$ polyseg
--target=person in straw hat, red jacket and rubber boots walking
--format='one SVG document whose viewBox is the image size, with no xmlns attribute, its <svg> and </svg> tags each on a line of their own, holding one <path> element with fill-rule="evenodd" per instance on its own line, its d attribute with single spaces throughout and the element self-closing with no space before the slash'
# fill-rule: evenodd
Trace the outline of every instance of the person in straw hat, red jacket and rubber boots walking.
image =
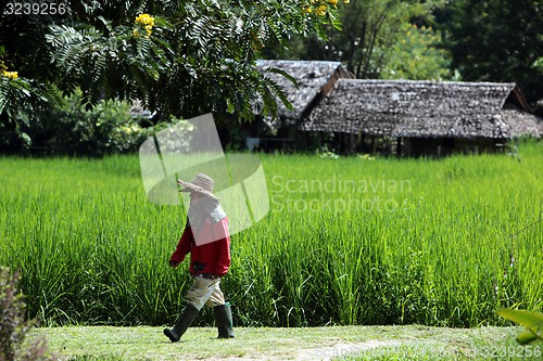
<svg viewBox="0 0 543 361">
<path fill-rule="evenodd" d="M 176 343 L 185 334 L 200 309 L 213 307 L 218 338 L 233 338 L 230 305 L 225 302 L 220 291 L 220 278 L 230 267 L 230 234 L 228 218 L 218 198 L 213 194 L 214 181 L 204 173 L 197 175 L 189 183 L 177 181 L 181 192 L 190 192 L 187 224 L 169 259 L 171 267 L 177 267 L 190 253 L 192 286 L 187 293 L 187 306 L 173 328 L 164 334 Z"/>
</svg>

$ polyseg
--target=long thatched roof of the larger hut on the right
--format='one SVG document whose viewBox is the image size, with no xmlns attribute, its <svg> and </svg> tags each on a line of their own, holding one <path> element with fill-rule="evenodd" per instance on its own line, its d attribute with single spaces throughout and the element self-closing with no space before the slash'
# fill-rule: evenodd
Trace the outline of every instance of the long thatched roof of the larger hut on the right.
<svg viewBox="0 0 543 361">
<path fill-rule="evenodd" d="M 504 109 L 515 83 L 339 79 L 302 130 L 407 138 L 512 138 L 541 119 Z M 515 93 L 519 96 L 519 92 Z"/>
</svg>

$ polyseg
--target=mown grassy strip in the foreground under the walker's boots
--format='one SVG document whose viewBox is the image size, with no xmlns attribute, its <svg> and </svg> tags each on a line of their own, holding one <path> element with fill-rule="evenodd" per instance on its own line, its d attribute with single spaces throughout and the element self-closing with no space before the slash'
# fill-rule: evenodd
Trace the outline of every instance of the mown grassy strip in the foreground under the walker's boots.
<svg viewBox="0 0 543 361">
<path fill-rule="evenodd" d="M 191 327 L 180 343 L 172 344 L 162 327 L 70 326 L 37 328 L 29 338 L 47 337 L 49 349 L 70 360 L 541 359 L 542 346 L 516 344 L 519 331 L 419 325 L 238 327 L 235 339 L 215 339 L 215 328 Z"/>
</svg>

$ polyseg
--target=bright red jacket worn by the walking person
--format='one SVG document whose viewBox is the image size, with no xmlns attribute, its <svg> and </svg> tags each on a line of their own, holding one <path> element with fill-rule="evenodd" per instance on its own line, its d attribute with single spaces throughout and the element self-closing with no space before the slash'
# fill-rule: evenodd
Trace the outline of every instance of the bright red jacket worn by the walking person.
<svg viewBox="0 0 543 361">
<path fill-rule="evenodd" d="M 228 233 L 228 218 L 225 217 L 216 223 L 205 222 L 200 232 L 213 234 L 213 240 L 198 246 L 190 227 L 186 227 L 177 249 L 169 261 L 182 262 L 190 253 L 190 274 L 213 273 L 223 276 L 230 267 L 230 234 Z"/>
</svg>

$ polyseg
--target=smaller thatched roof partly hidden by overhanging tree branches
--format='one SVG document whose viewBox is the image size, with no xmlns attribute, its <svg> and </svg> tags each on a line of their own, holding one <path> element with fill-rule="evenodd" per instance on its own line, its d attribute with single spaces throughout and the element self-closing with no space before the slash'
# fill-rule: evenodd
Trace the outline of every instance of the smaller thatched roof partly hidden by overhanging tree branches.
<svg viewBox="0 0 543 361">
<path fill-rule="evenodd" d="M 289 111 L 279 100 L 278 115 L 283 119 L 290 119 L 290 123 L 296 123 L 303 117 L 312 102 L 319 95 L 321 88 L 332 78 L 336 80 L 339 76 L 346 76 L 340 62 L 262 60 L 256 62 L 256 66 L 261 73 L 276 81 L 285 90 L 294 111 Z M 298 89 L 292 81 L 282 75 L 266 73 L 269 68 L 278 68 L 288 73 L 296 80 Z"/>
</svg>

